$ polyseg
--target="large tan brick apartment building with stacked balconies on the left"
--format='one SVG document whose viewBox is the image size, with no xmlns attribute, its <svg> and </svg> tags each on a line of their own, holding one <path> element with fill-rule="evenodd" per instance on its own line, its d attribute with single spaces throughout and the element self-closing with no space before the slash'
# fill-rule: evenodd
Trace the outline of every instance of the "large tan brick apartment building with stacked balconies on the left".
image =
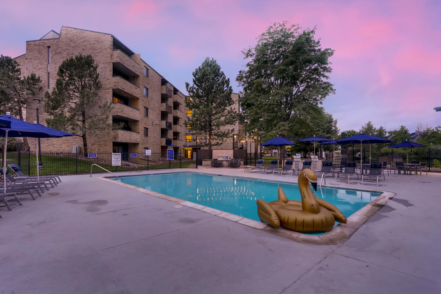
<svg viewBox="0 0 441 294">
<path fill-rule="evenodd" d="M 112 101 L 109 123 L 123 123 L 121 130 L 89 136 L 89 151 L 142 153 L 165 152 L 169 148 L 182 152 L 185 145 L 185 95 L 155 71 L 137 54 L 109 33 L 99 33 L 63 26 L 60 33 L 50 31 L 44 37 L 26 41 L 26 53 L 15 58 L 23 74 L 41 77 L 44 91 L 55 86 L 61 62 L 77 54 L 93 56 L 98 64 L 102 88 L 98 99 Z M 40 123 L 47 114 L 40 104 Z M 26 104 L 26 121 L 34 122 L 36 102 Z M 173 145 L 173 147 L 170 147 Z M 42 139 L 41 149 L 72 152 L 82 138 Z M 31 147 L 32 148 L 32 147 Z M 124 159 L 124 158 L 123 158 Z"/>
</svg>

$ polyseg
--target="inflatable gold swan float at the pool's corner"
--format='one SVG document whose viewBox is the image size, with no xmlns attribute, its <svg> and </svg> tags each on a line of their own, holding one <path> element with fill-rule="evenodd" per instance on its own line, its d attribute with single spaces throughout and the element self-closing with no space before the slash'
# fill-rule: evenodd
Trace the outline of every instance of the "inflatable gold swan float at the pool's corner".
<svg viewBox="0 0 441 294">
<path fill-rule="evenodd" d="M 302 201 L 288 200 L 282 188 L 279 187 L 279 200 L 265 202 L 257 200 L 259 219 L 272 227 L 302 233 L 320 233 L 330 231 L 335 221 L 347 223 L 346 216 L 340 209 L 328 201 L 316 198 L 309 187 L 311 182 L 317 191 L 317 175 L 309 168 L 299 174 L 299 190 Z"/>
</svg>

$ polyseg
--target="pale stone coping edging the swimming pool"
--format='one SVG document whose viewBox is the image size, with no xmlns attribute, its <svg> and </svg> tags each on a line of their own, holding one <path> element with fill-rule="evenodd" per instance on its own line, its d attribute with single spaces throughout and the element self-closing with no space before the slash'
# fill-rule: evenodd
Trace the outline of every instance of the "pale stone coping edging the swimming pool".
<svg viewBox="0 0 441 294">
<path fill-rule="evenodd" d="M 192 172 L 192 173 L 198 173 L 203 175 L 219 175 L 219 174 L 211 174 L 211 173 L 204 173 L 204 172 L 195 172 L 195 171 L 173 171 L 173 172 L 164 172 L 164 173 L 148 173 L 148 174 L 141 174 L 141 175 L 158 175 L 158 174 L 170 174 L 170 173 L 177 173 L 177 172 Z M 128 176 L 140 176 L 140 175 L 128 175 Z M 234 176 L 234 175 L 220 175 L 220 176 L 228 176 L 228 177 L 236 177 L 236 178 L 243 178 L 243 179 L 254 179 L 254 178 L 247 178 L 247 177 L 240 177 L 240 176 Z M 243 216 L 238 216 L 229 212 L 224 212 L 215 208 L 211 208 L 208 206 L 200 205 L 198 203 L 194 203 L 191 201 L 183 200 L 180 198 L 176 198 L 173 196 L 161 194 L 152 190 L 147 190 L 144 188 L 140 188 L 137 186 L 133 186 L 130 184 L 126 184 L 123 182 L 118 182 L 115 180 L 112 180 L 110 178 L 114 177 L 97 177 L 96 179 L 100 179 L 106 182 L 112 182 L 116 185 L 120 185 L 132 190 L 136 190 L 139 192 L 142 192 L 144 194 L 149 194 L 154 197 L 158 197 L 161 199 L 165 199 L 168 201 L 175 202 L 180 205 L 185 205 L 190 208 L 198 209 L 202 212 L 206 212 L 209 214 L 212 214 L 214 216 L 219 216 L 221 218 L 224 218 L 226 220 L 231 220 L 236 223 L 241 223 L 243 225 L 246 225 L 248 227 L 252 227 L 254 229 L 262 230 L 269 232 L 271 234 L 276 234 L 278 236 L 288 238 L 291 240 L 294 240 L 296 242 L 302 242 L 302 243 L 308 243 L 308 244 L 315 244 L 315 245 L 334 245 L 341 242 L 346 241 L 352 234 L 355 233 L 364 223 L 366 223 L 367 220 L 370 219 L 371 216 L 373 216 L 380 208 L 382 208 L 384 205 L 386 205 L 386 202 L 389 199 L 392 199 L 396 193 L 389 192 L 389 191 L 382 191 L 382 190 L 370 190 L 370 189 L 360 189 L 360 188 L 346 188 L 346 187 L 340 187 L 340 186 L 329 186 L 329 185 L 322 185 L 325 187 L 330 188 L 337 188 L 337 189 L 348 189 L 348 190 L 359 190 L 359 191 L 367 191 L 367 192 L 377 192 L 381 193 L 380 196 L 376 197 L 373 201 L 369 202 L 363 208 L 360 208 L 356 212 L 354 212 L 351 216 L 348 217 L 348 223 L 339 223 L 331 231 L 326 232 L 325 234 L 321 235 L 311 235 L 311 234 L 302 234 L 295 231 L 290 231 L 287 229 L 284 229 L 282 227 L 274 228 L 266 223 L 259 222 L 257 220 L 251 220 Z M 283 182 L 288 184 L 298 184 L 295 182 L 286 182 L 286 181 L 280 181 L 280 180 L 273 180 L 273 179 L 255 179 L 255 180 L 263 180 L 263 181 L 271 181 L 271 182 Z"/>
</svg>

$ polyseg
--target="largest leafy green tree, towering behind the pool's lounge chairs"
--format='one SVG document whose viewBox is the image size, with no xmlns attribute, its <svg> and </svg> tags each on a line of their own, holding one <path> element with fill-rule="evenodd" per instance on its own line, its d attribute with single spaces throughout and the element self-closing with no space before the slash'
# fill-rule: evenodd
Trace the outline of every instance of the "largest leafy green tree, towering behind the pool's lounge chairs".
<svg viewBox="0 0 441 294">
<path fill-rule="evenodd" d="M 258 37 L 257 45 L 243 51 L 249 60 L 236 81 L 243 87 L 239 99 L 247 123 L 245 130 L 265 134 L 296 135 L 307 129 L 307 109 L 331 93 L 326 82 L 330 48 L 314 39 L 315 28 L 303 30 L 288 22 L 274 23 Z"/>
</svg>

